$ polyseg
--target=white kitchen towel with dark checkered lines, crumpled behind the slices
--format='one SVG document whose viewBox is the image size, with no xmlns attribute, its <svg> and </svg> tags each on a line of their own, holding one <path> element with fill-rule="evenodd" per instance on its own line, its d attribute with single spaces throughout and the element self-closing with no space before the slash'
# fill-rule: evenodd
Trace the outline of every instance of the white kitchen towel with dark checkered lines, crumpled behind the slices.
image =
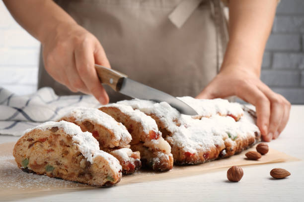
<svg viewBox="0 0 304 202">
<path fill-rule="evenodd" d="M 0 87 L 0 134 L 21 136 L 40 123 L 56 120 L 76 106 L 100 106 L 93 96 L 57 96 L 52 88 L 42 88 L 28 96 L 17 96 Z"/>
</svg>

